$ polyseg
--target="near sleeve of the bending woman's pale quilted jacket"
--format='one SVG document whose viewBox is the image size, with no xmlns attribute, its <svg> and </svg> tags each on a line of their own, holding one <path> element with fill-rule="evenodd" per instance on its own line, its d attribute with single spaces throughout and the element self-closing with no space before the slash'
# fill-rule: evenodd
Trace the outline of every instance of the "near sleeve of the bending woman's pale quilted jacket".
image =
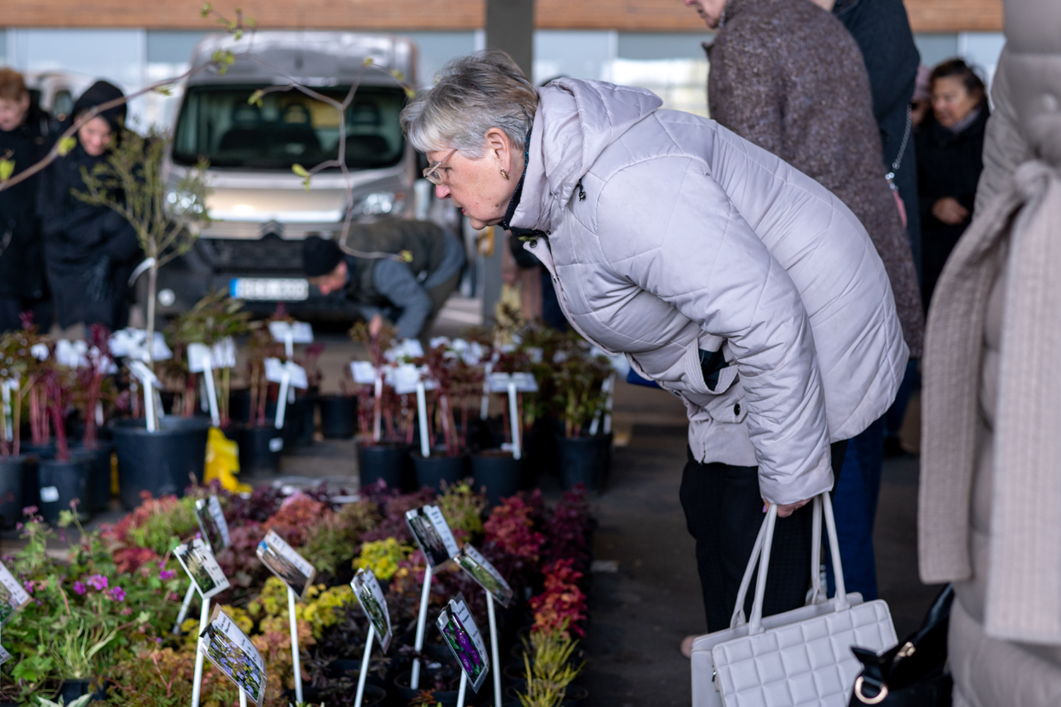
<svg viewBox="0 0 1061 707">
<path fill-rule="evenodd" d="M 763 497 L 803 500 L 833 485 L 811 323 L 788 273 L 706 172 L 667 157 L 611 177 L 596 210 L 602 251 L 619 277 L 729 340 Z"/>
</svg>

